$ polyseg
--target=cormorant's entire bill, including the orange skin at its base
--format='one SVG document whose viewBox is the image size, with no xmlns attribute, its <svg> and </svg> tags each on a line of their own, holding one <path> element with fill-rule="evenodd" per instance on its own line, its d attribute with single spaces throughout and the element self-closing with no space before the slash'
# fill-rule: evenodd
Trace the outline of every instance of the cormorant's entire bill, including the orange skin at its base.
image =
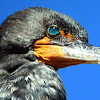
<svg viewBox="0 0 100 100">
<path fill-rule="evenodd" d="M 33 46 L 38 61 L 53 66 L 55 70 L 83 63 L 100 64 L 100 47 L 81 41 L 63 46 L 52 44 L 48 37 L 44 37 Z"/>
</svg>

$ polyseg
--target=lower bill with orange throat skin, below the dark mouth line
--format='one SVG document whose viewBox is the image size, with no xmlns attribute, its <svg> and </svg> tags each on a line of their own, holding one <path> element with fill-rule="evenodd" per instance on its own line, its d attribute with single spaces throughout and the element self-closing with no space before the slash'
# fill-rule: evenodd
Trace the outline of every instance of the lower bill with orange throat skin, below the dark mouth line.
<svg viewBox="0 0 100 100">
<path fill-rule="evenodd" d="M 93 52 L 84 52 L 82 49 L 74 49 L 58 45 L 34 45 L 34 55 L 39 62 L 45 63 L 58 70 L 77 64 L 99 64 L 100 55 Z"/>
</svg>

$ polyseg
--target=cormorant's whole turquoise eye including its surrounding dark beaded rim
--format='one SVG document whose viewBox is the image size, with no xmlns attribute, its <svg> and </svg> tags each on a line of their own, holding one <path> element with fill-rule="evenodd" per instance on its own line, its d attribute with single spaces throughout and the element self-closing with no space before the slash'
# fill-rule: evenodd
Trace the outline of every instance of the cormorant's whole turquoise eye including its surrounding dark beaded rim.
<svg viewBox="0 0 100 100">
<path fill-rule="evenodd" d="M 60 33 L 58 26 L 52 25 L 47 30 L 47 36 L 55 37 Z"/>
</svg>

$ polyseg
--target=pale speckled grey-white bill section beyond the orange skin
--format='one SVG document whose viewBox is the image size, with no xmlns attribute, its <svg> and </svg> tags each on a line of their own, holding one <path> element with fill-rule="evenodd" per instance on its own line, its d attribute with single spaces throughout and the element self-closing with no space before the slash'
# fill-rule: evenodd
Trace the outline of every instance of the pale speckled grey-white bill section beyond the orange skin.
<svg viewBox="0 0 100 100">
<path fill-rule="evenodd" d="M 62 47 L 65 58 L 76 59 L 87 64 L 100 64 L 100 48 L 88 43 L 74 43 L 71 47 Z"/>
</svg>

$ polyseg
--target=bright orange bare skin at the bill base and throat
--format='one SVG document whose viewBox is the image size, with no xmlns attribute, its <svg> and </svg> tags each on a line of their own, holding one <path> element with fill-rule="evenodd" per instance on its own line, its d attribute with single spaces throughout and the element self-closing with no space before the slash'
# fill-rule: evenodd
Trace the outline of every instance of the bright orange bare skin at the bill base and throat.
<svg viewBox="0 0 100 100">
<path fill-rule="evenodd" d="M 61 46 L 52 45 L 48 37 L 37 40 L 33 46 L 38 61 L 53 66 L 55 70 L 81 63 L 75 59 L 65 58 Z"/>
</svg>

